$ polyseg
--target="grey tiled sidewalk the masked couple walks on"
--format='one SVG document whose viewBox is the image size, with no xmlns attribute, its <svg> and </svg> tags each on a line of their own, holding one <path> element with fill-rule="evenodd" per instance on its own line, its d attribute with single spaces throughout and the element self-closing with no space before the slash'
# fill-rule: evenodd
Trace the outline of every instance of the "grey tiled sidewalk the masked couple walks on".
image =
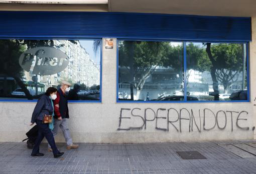
<svg viewBox="0 0 256 174">
<path fill-rule="evenodd" d="M 80 143 L 72 150 L 58 143 L 61 158 L 53 158 L 45 143 L 45 156 L 32 157 L 25 142 L 0 142 L 0 173 L 256 173 L 253 151 L 237 148 L 248 155 L 242 158 L 218 144 L 251 144 L 253 150 L 256 141 Z M 198 151 L 206 159 L 182 159 L 177 151 Z"/>
</svg>

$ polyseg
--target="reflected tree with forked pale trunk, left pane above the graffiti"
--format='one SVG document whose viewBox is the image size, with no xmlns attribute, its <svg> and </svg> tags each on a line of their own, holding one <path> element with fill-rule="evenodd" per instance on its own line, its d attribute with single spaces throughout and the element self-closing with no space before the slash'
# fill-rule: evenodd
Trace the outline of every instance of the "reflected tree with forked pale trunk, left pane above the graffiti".
<svg viewBox="0 0 256 174">
<path fill-rule="evenodd" d="M 169 42 L 159 41 L 122 41 L 119 44 L 119 66 L 126 68 L 130 81 L 137 89 L 136 97 L 140 93 L 147 78 L 158 66 L 163 66 L 166 48 Z"/>
</svg>

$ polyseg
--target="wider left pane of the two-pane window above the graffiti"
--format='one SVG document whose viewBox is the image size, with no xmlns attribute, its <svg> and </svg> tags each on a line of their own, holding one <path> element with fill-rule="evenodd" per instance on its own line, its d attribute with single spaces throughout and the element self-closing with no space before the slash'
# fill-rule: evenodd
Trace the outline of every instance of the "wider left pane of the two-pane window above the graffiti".
<svg viewBox="0 0 256 174">
<path fill-rule="evenodd" d="M 184 100 L 182 42 L 120 40 L 118 48 L 118 100 Z"/>
</svg>

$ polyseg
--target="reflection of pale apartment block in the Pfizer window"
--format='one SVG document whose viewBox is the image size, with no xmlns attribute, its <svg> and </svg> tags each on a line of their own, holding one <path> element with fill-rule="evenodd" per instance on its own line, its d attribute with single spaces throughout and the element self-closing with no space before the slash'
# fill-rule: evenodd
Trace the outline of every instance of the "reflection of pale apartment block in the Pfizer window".
<svg viewBox="0 0 256 174">
<path fill-rule="evenodd" d="M 84 83 L 86 86 L 94 84 L 99 85 L 100 68 L 90 59 L 86 48 L 79 41 L 71 42 L 69 40 L 54 40 L 55 48 L 65 52 L 69 57 L 68 66 L 61 72 L 52 75 L 38 76 L 38 82 L 44 83 L 45 88 L 49 86 L 57 86 L 63 79 L 72 83 Z M 25 71 L 24 78 L 26 81 L 32 82 L 32 70 Z M 39 89 L 40 91 L 41 89 Z"/>
</svg>

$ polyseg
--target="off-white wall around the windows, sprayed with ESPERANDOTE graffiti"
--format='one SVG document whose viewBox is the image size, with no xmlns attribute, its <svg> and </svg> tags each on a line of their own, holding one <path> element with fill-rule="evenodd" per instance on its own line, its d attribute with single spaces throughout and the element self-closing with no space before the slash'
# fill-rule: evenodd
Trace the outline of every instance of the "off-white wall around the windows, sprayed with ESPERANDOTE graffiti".
<svg viewBox="0 0 256 174">
<path fill-rule="evenodd" d="M 252 42 L 250 43 L 250 93 L 251 102 L 230 102 L 230 103 L 116 103 L 116 40 L 114 48 L 105 49 L 103 42 L 102 60 L 102 103 L 69 103 L 70 120 L 69 128 L 74 142 L 164 142 L 164 141 L 202 141 L 218 139 L 252 139 L 253 127 L 255 126 L 255 106 L 253 101 L 256 96 L 256 18 L 252 18 Z M 104 40 L 103 40 L 104 41 Z M 0 102 L 0 141 L 21 141 L 26 137 L 25 133 L 32 127 L 29 126 L 31 115 L 36 103 L 22 102 Z M 125 108 L 125 109 L 123 109 Z M 133 110 L 133 116 L 131 111 Z M 145 109 L 147 109 L 146 128 L 143 125 Z M 166 110 L 161 110 L 166 109 Z M 169 121 L 168 123 L 168 109 Z M 130 109 L 130 110 L 127 110 Z M 180 112 L 180 109 L 182 111 Z M 200 118 L 199 118 L 200 109 Z M 122 118 L 120 117 L 122 110 Z M 154 118 L 154 112 L 158 118 Z M 191 119 L 191 110 L 193 119 Z M 177 112 L 176 112 L 177 111 Z M 205 111 L 205 114 L 204 114 Z M 232 117 L 231 117 L 231 112 Z M 218 113 L 218 121 L 215 115 Z M 190 119 L 178 119 L 190 118 Z M 190 114 L 190 115 L 189 115 Z M 237 120 L 237 116 L 240 114 Z M 225 121 L 226 115 L 226 121 Z M 197 130 L 195 122 L 200 127 Z M 245 120 L 246 119 L 246 120 Z M 156 124 L 157 120 L 157 124 Z M 193 131 L 192 128 L 193 120 Z M 209 129 L 214 126 L 211 130 Z M 224 127 L 223 129 L 218 128 Z M 237 123 L 237 124 L 236 124 Z M 120 126 L 119 126 L 120 124 Z M 143 125 L 143 126 L 142 126 Z M 169 125 L 169 131 L 163 129 Z M 248 127 L 242 129 L 241 127 Z M 140 127 L 134 129 L 131 127 Z M 174 128 L 178 129 L 178 131 Z M 118 128 L 130 128 L 130 130 L 118 130 Z M 190 131 L 189 131 L 190 128 Z M 254 133 L 254 137 L 256 134 Z M 62 133 L 56 137 L 56 141 L 63 142 Z"/>
</svg>

